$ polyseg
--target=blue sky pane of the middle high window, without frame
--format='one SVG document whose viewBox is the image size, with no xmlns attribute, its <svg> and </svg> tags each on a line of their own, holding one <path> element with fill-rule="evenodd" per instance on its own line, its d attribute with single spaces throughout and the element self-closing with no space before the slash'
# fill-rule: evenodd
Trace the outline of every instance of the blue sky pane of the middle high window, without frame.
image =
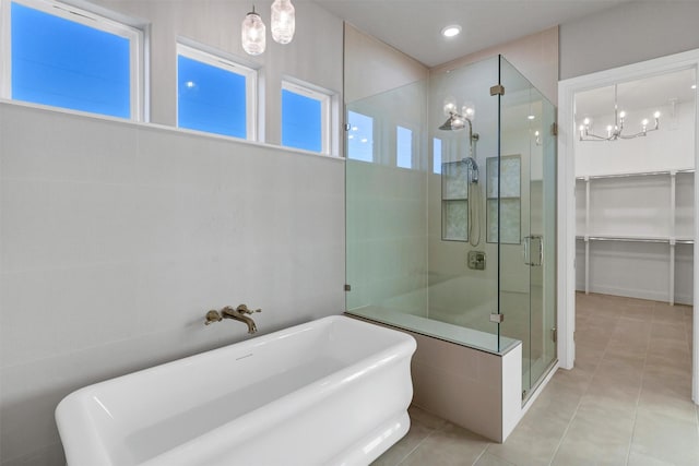
<svg viewBox="0 0 699 466">
<path fill-rule="evenodd" d="M 177 57 L 177 126 L 247 136 L 246 77 L 188 57 Z"/>
</svg>

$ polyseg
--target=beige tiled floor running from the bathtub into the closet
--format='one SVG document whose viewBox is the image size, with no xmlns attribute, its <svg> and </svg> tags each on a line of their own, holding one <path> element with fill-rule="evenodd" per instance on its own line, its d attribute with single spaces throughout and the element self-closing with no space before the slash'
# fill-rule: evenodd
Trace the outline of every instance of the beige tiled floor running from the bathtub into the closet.
<svg viewBox="0 0 699 466">
<path fill-rule="evenodd" d="M 411 407 L 410 432 L 374 465 L 699 465 L 691 308 L 579 294 L 576 319 L 576 368 L 554 375 L 507 442 Z"/>
</svg>

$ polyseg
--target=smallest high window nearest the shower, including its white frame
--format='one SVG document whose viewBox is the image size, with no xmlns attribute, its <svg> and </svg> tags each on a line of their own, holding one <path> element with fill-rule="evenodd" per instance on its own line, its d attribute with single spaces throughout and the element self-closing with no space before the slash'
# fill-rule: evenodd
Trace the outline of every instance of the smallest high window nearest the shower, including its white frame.
<svg viewBox="0 0 699 466">
<path fill-rule="evenodd" d="M 282 81 L 282 145 L 330 154 L 331 94 Z"/>
</svg>

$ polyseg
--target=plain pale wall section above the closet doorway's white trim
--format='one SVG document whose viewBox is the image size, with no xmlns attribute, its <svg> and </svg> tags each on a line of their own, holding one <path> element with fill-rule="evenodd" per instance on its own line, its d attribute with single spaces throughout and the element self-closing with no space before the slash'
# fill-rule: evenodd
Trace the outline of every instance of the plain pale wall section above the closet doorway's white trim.
<svg viewBox="0 0 699 466">
<path fill-rule="evenodd" d="M 560 79 L 699 48 L 699 2 L 635 1 L 560 25 Z"/>
</svg>

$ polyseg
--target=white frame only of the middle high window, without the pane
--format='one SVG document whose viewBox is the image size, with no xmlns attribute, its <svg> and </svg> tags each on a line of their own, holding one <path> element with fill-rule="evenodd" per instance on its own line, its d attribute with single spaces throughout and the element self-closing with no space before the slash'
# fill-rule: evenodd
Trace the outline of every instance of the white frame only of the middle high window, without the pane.
<svg viewBox="0 0 699 466">
<path fill-rule="evenodd" d="M 242 63 L 242 60 L 236 59 L 229 53 L 214 50 L 201 44 L 179 38 L 175 49 L 175 124 L 178 129 L 190 130 L 179 126 L 179 67 L 177 65 L 178 57 L 182 56 L 191 60 L 196 60 L 215 67 L 224 71 L 245 76 L 245 98 L 246 98 L 246 140 L 258 141 L 258 70 Z M 199 130 L 191 130 L 199 131 Z M 203 131 L 206 132 L 206 131 Z M 208 134 L 215 134 L 206 132 Z M 224 134 L 218 134 L 225 136 Z M 235 138 L 235 136 L 226 136 Z"/>
</svg>

